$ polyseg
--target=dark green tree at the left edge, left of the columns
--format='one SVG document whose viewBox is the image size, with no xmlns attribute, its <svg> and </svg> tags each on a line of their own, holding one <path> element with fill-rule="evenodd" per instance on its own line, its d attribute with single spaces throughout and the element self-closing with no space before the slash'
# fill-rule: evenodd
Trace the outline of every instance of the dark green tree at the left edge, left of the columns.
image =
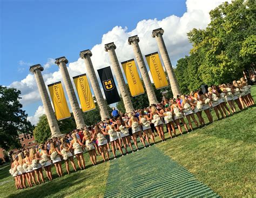
<svg viewBox="0 0 256 198">
<path fill-rule="evenodd" d="M 20 94 L 16 88 L 0 86 L 0 147 L 6 150 L 21 147 L 18 135 L 33 130 L 28 114 L 19 103 Z"/>
</svg>

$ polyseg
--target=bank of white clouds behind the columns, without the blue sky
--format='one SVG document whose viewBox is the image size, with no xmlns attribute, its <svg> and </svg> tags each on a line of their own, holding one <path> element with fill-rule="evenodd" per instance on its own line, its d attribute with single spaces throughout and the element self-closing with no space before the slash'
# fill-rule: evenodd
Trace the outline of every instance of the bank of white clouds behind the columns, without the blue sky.
<svg viewBox="0 0 256 198">
<path fill-rule="evenodd" d="M 128 37 L 133 35 L 139 36 L 140 49 L 144 55 L 158 51 L 156 39 L 151 37 L 152 30 L 157 28 L 164 29 L 163 37 L 165 45 L 173 65 L 176 65 L 177 60 L 188 54 L 191 49 L 191 44 L 188 42 L 186 33 L 193 28 L 205 28 L 210 22 L 208 12 L 222 2 L 224 2 L 224 0 L 187 0 L 187 12 L 181 17 L 171 15 L 161 20 L 156 18 L 143 20 L 138 22 L 136 28 L 130 31 L 126 27 L 115 26 L 102 36 L 102 43 L 96 44 L 91 49 L 91 59 L 95 70 L 111 65 L 109 54 L 104 50 L 106 43 L 114 42 L 116 44 L 116 53 L 119 62 L 134 58 L 132 46 L 127 44 Z M 68 56 L 68 54 L 66 56 Z M 25 64 L 25 62 L 21 61 L 20 64 Z M 53 64 L 54 59 L 49 58 L 43 66 L 45 69 L 48 69 Z M 70 77 L 86 73 L 84 61 L 79 58 L 76 62 L 69 63 L 68 70 Z M 62 80 L 59 70 L 53 73 L 47 73 L 47 70 L 44 72 L 43 77 L 46 85 Z M 10 86 L 16 87 L 22 91 L 21 103 L 24 106 L 41 100 L 35 78 L 32 74 L 28 74 L 28 76 L 21 81 L 13 82 Z M 38 120 L 38 114 L 40 112 L 42 113 L 42 107 L 40 107 L 40 109 L 39 107 L 34 117 L 30 117 L 31 120 Z"/>
</svg>

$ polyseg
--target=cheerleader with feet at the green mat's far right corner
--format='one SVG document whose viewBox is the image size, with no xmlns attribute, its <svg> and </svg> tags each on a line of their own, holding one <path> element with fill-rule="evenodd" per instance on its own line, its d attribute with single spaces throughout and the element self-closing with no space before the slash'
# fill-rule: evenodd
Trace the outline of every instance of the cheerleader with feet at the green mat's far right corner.
<svg viewBox="0 0 256 198">
<path fill-rule="evenodd" d="M 143 110 L 139 110 L 139 123 L 140 125 L 142 125 L 142 131 L 144 133 L 144 136 L 146 137 L 146 141 L 147 141 L 147 144 L 149 144 L 149 146 L 150 146 L 149 136 L 153 141 L 153 143 L 156 144 L 156 142 L 154 141 L 154 135 L 152 133 L 152 129 L 150 126 L 150 121 L 151 121 L 150 114 L 149 113 L 145 114 Z"/>
</svg>

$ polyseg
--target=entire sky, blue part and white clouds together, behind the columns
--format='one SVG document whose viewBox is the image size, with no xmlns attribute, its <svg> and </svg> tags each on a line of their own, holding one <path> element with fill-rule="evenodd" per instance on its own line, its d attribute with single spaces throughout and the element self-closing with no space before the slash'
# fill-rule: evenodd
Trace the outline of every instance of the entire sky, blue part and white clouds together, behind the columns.
<svg viewBox="0 0 256 198">
<path fill-rule="evenodd" d="M 210 22 L 208 12 L 223 1 L 2 0 L 0 84 L 22 91 L 23 108 L 36 124 L 44 111 L 29 66 L 43 65 L 45 84 L 55 83 L 62 80 L 55 58 L 68 58 L 70 76 L 77 76 L 86 73 L 80 51 L 91 49 L 97 70 L 111 65 L 104 51 L 106 43 L 117 45 L 119 62 L 134 58 L 127 45 L 129 36 L 139 36 L 144 55 L 158 51 L 151 32 L 160 27 L 165 30 L 165 44 L 175 66 L 190 52 L 186 33 L 205 28 Z"/>
</svg>

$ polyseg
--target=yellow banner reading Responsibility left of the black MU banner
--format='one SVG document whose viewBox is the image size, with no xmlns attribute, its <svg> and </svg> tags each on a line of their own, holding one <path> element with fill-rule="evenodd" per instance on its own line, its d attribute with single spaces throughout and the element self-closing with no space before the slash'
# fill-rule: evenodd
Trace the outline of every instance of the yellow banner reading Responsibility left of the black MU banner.
<svg viewBox="0 0 256 198">
<path fill-rule="evenodd" d="M 92 93 L 90 90 L 90 86 L 89 86 L 86 74 L 73 77 L 73 80 L 76 85 L 78 97 L 79 97 L 83 112 L 94 110 L 95 103 L 92 98 Z"/>
</svg>

